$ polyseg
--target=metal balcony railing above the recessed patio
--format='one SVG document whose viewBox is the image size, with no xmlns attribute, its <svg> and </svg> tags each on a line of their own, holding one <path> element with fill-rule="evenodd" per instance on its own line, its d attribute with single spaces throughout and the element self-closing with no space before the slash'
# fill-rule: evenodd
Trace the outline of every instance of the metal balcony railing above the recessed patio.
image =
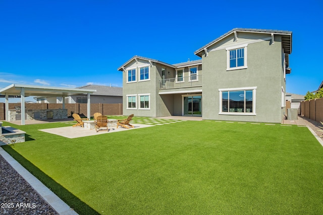
<svg viewBox="0 0 323 215">
<path fill-rule="evenodd" d="M 160 89 L 202 86 L 202 75 L 165 79 L 160 81 Z"/>
</svg>

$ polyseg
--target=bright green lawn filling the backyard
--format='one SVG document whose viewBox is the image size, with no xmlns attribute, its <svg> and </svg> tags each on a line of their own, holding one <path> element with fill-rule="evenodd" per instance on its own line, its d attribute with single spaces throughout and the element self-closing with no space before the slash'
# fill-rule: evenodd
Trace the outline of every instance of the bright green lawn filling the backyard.
<svg viewBox="0 0 323 215">
<path fill-rule="evenodd" d="M 306 127 L 181 121 L 68 139 L 38 131 L 66 123 L 4 125 L 29 141 L 3 148 L 80 214 L 323 214 L 323 147 Z"/>
</svg>

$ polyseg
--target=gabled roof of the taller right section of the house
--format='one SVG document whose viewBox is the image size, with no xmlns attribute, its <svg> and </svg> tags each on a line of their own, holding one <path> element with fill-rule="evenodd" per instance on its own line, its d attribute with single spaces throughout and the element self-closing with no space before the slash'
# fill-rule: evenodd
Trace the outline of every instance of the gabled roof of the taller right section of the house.
<svg viewBox="0 0 323 215">
<path fill-rule="evenodd" d="M 234 32 L 251 32 L 251 33 L 265 33 L 265 34 L 279 34 L 282 35 L 282 44 L 284 48 L 285 53 L 292 53 L 292 32 L 291 31 L 281 31 L 281 30 L 265 30 L 265 29 L 254 29 L 254 28 L 234 28 L 231 31 L 221 35 L 217 39 L 207 43 L 203 47 L 197 49 L 194 54 L 201 56 L 204 51 L 204 48 L 207 48 L 214 43 L 222 40 L 223 38 L 227 37 L 230 34 L 233 34 Z"/>
</svg>

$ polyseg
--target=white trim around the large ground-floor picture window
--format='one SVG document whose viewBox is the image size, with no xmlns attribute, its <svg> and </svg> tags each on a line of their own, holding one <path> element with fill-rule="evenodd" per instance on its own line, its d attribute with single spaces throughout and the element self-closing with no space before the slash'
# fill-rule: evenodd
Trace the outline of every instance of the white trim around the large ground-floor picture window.
<svg viewBox="0 0 323 215">
<path fill-rule="evenodd" d="M 243 88 L 224 88 L 224 89 L 219 89 L 219 94 L 220 94 L 220 111 L 219 115 L 242 115 L 242 116 L 255 116 L 256 115 L 256 89 L 257 87 L 243 87 Z M 228 91 L 249 91 L 252 90 L 252 112 L 222 112 L 222 92 Z"/>
</svg>

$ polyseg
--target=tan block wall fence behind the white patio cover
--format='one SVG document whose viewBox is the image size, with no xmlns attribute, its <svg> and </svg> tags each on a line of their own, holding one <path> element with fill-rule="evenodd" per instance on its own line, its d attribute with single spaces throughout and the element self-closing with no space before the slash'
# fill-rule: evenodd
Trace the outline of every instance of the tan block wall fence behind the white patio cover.
<svg viewBox="0 0 323 215">
<path fill-rule="evenodd" d="M 9 110 L 14 110 L 15 107 L 21 107 L 20 103 L 9 103 Z M 62 109 L 63 104 L 48 104 L 48 103 L 26 103 L 26 110 L 42 110 L 42 109 Z M 0 120 L 6 120 L 5 117 L 5 103 L 0 103 Z M 80 115 L 87 116 L 87 104 L 75 103 L 65 104 L 67 109 L 67 116 L 71 116 L 71 111 Z M 99 112 L 102 115 L 122 115 L 122 104 L 91 104 L 91 116 Z"/>
</svg>

